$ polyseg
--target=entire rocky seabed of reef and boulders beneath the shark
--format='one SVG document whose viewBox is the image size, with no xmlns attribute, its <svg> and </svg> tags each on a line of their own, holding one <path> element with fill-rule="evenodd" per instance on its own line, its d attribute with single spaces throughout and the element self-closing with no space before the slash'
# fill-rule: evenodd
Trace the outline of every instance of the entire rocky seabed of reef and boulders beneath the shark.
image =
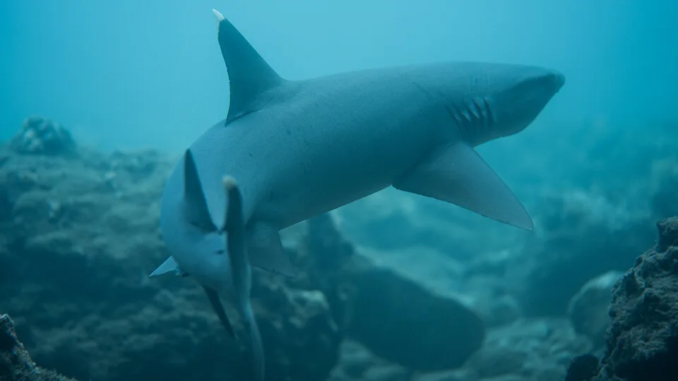
<svg viewBox="0 0 678 381">
<path fill-rule="evenodd" d="M 37 363 L 79 380 L 248 379 L 246 342 L 196 282 L 148 278 L 169 255 L 158 202 L 177 159 L 90 150 L 40 118 L 0 145 L 0 313 Z M 254 272 L 267 380 L 673 380 L 652 372 L 674 371 L 675 219 L 626 270 L 675 205 L 676 163 L 648 166 L 650 214 L 544 192 L 529 235 L 393 190 L 286 229 L 299 277 Z"/>
</svg>

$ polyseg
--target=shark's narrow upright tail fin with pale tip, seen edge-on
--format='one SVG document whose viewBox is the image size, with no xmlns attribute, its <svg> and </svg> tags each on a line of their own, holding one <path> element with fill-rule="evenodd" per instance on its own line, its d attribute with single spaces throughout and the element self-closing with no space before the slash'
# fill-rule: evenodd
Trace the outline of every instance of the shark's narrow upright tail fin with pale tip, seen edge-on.
<svg viewBox="0 0 678 381">
<path fill-rule="evenodd" d="M 259 329 L 256 325 L 249 296 L 252 286 L 252 273 L 245 244 L 242 195 L 236 181 L 232 177 L 224 177 L 223 184 L 227 200 L 224 230 L 227 232 L 226 246 L 230 258 L 231 277 L 237 298 L 237 306 L 251 339 L 254 380 L 263 381 L 265 368 L 263 344 L 261 343 L 261 334 L 259 334 Z"/>
</svg>

